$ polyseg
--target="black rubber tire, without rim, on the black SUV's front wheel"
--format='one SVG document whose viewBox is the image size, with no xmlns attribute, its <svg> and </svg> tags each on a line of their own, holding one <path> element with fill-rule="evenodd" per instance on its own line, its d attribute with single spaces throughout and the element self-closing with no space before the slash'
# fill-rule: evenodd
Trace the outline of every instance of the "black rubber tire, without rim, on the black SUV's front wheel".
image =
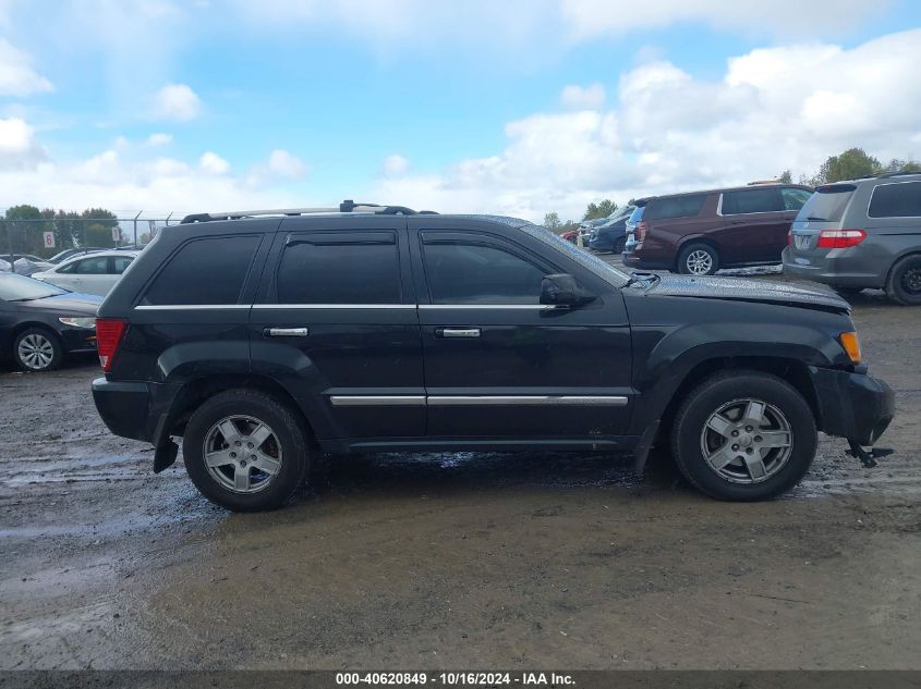
<svg viewBox="0 0 921 689">
<path fill-rule="evenodd" d="M 715 410 L 750 398 L 783 414 L 790 427 L 790 452 L 760 482 L 732 482 L 707 464 L 702 433 Z M 726 371 L 698 385 L 682 402 L 671 427 L 672 455 L 684 477 L 711 497 L 736 502 L 767 500 L 791 489 L 809 470 L 817 442 L 815 417 L 803 396 L 786 381 L 751 370 Z"/>
</svg>

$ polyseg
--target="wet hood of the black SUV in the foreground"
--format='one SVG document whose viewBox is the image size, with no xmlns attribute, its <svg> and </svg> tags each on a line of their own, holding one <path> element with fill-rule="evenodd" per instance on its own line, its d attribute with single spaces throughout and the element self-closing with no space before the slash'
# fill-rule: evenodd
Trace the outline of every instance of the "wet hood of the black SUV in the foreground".
<svg viewBox="0 0 921 689">
<path fill-rule="evenodd" d="M 850 305 L 836 294 L 813 287 L 793 286 L 785 282 L 712 275 L 693 278 L 690 275 L 661 275 L 661 278 L 659 282 L 652 284 L 646 290 L 647 295 L 766 302 L 787 306 L 850 311 Z"/>
</svg>

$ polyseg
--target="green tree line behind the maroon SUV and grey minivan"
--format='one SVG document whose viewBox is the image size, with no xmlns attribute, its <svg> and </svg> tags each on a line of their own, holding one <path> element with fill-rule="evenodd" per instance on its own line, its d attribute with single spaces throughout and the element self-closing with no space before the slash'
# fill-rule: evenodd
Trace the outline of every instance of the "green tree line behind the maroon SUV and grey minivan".
<svg viewBox="0 0 921 689">
<path fill-rule="evenodd" d="M 829 156 L 814 174 L 800 175 L 799 183 L 814 187 L 820 184 L 829 184 L 832 182 L 840 182 L 841 180 L 857 180 L 886 172 L 921 172 L 921 163 L 913 159 L 893 158 L 889 162 L 883 164 L 877 158 L 868 155 L 862 148 L 849 148 L 837 156 Z M 777 175 L 776 180 L 784 184 L 792 184 L 793 174 L 790 170 L 784 170 Z M 627 201 L 627 205 L 629 206 L 632 202 L 633 199 L 631 198 Z M 581 222 L 607 218 L 618 208 L 619 206 L 609 198 L 598 202 L 593 201 L 585 208 Z M 566 222 L 561 222 L 559 214 L 556 211 L 550 211 L 544 216 L 544 226 L 553 232 L 561 233 L 578 227 L 579 221 L 567 220 Z"/>
</svg>

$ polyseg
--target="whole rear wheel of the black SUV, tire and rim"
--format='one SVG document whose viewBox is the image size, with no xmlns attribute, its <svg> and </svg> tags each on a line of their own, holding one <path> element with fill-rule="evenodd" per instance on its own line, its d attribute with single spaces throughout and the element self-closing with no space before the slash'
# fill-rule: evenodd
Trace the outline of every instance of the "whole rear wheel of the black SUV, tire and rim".
<svg viewBox="0 0 921 689">
<path fill-rule="evenodd" d="M 233 512 L 284 505 L 304 482 L 310 459 L 299 418 L 254 390 L 222 392 L 198 407 L 185 428 L 182 455 L 195 488 Z"/>
</svg>

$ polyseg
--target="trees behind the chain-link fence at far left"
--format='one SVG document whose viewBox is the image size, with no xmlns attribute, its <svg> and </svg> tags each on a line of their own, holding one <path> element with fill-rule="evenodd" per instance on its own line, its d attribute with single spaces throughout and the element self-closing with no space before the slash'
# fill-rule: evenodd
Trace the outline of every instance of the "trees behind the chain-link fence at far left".
<svg viewBox="0 0 921 689">
<path fill-rule="evenodd" d="M 0 217 L 0 255 L 48 257 L 81 246 L 108 248 L 118 245 L 112 235 L 112 229 L 118 226 L 116 214 L 105 208 L 75 212 L 29 205 L 13 206 Z M 45 247 L 46 232 L 53 233 L 54 248 Z M 118 236 L 121 237 L 120 230 Z"/>
</svg>

